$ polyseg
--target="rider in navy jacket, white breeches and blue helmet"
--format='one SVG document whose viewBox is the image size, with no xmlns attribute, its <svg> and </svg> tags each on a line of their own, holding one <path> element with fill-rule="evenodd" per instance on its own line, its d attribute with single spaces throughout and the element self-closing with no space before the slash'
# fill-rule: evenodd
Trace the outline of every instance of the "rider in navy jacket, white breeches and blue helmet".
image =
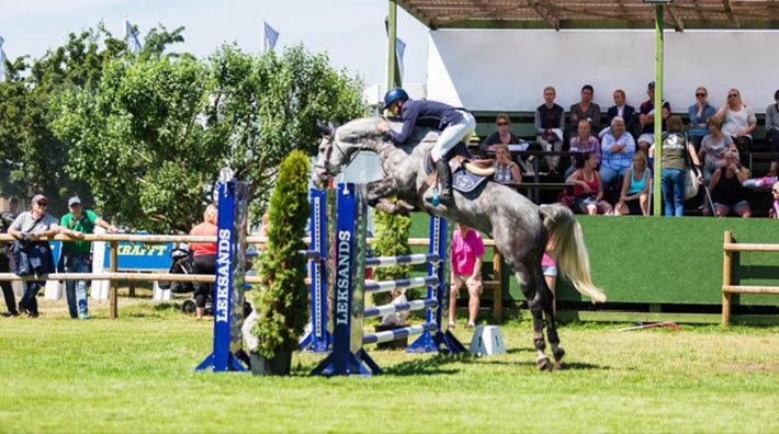
<svg viewBox="0 0 779 434">
<path fill-rule="evenodd" d="M 390 129 L 390 125 L 384 122 L 379 124 L 379 132 L 387 133 L 395 144 L 403 145 L 410 137 L 416 125 L 441 132 L 430 155 L 436 162 L 441 182 L 439 201 L 443 205 L 451 205 L 454 202 L 452 173 L 444 157 L 460 140 L 474 133 L 476 119 L 465 108 L 453 107 L 438 101 L 410 100 L 408 93 L 400 88 L 387 91 L 384 95 L 384 110 L 403 119 L 403 128 L 399 133 Z"/>
</svg>

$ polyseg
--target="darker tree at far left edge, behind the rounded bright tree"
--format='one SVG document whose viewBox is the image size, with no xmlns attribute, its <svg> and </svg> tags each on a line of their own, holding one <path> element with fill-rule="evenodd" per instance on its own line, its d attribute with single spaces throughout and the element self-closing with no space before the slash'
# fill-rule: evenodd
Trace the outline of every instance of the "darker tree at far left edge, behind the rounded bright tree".
<svg viewBox="0 0 779 434">
<path fill-rule="evenodd" d="M 103 65 L 125 48 L 101 24 L 71 33 L 65 45 L 39 59 L 19 57 L 8 64 L 0 83 L 0 169 L 7 174 L 0 176 L 0 193 L 41 191 L 54 209 L 64 209 L 65 198 L 74 192 L 89 195 L 89 187 L 64 170 L 68 147 L 52 130 L 53 107 L 68 89 L 93 90 Z"/>
</svg>

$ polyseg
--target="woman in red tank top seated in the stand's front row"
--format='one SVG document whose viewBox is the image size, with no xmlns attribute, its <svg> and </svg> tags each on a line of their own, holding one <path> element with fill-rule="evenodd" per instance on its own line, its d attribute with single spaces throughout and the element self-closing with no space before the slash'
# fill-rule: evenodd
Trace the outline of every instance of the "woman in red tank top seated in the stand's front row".
<svg viewBox="0 0 779 434">
<path fill-rule="evenodd" d="M 584 214 L 613 214 L 611 205 L 603 201 L 603 184 L 600 181 L 598 160 L 590 152 L 576 155 L 576 171 L 568 176 L 567 182 L 574 184 L 575 208 Z"/>
</svg>

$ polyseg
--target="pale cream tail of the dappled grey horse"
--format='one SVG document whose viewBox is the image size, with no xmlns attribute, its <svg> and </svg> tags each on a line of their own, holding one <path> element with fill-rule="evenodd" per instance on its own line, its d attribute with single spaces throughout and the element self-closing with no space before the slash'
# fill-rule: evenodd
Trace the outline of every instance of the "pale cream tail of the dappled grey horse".
<svg viewBox="0 0 779 434">
<path fill-rule="evenodd" d="M 592 284 L 589 273 L 589 255 L 584 244 L 582 226 L 574 213 L 561 204 L 541 205 L 541 216 L 549 233 L 549 254 L 557 261 L 557 269 L 579 293 L 592 302 L 606 301 L 606 294 Z"/>
</svg>

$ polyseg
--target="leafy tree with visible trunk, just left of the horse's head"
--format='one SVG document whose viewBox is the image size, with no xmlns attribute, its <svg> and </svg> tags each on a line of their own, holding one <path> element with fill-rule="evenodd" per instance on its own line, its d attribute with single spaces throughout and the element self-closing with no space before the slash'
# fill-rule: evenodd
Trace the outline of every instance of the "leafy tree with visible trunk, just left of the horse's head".
<svg viewBox="0 0 779 434">
<path fill-rule="evenodd" d="M 262 215 L 279 163 L 293 149 L 315 155 L 317 122 L 366 113 L 361 83 L 302 45 L 252 57 L 225 45 L 211 57 L 214 83 L 207 137 L 227 144 L 236 176 L 251 184 L 250 215 Z"/>
</svg>

